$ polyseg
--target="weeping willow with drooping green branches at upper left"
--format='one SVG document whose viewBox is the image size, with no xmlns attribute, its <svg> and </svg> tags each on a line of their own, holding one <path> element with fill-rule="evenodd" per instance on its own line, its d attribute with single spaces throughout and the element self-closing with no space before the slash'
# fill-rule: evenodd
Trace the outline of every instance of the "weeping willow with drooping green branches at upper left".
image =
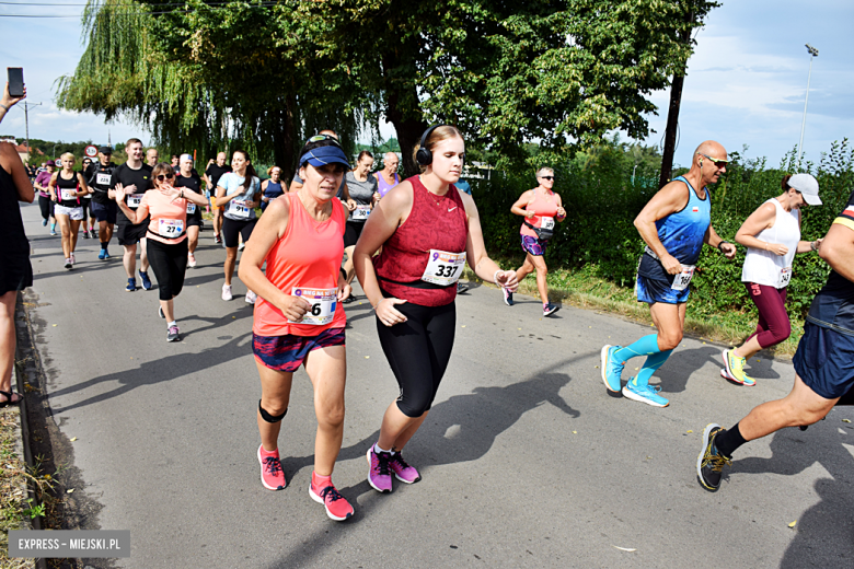
<svg viewBox="0 0 854 569">
<path fill-rule="evenodd" d="M 316 30 L 296 5 L 90 0 L 86 49 L 60 80 L 59 104 L 126 116 L 171 151 L 240 146 L 286 172 L 305 133 L 335 128 L 351 148 L 360 115 L 349 76 L 313 57 Z"/>
</svg>

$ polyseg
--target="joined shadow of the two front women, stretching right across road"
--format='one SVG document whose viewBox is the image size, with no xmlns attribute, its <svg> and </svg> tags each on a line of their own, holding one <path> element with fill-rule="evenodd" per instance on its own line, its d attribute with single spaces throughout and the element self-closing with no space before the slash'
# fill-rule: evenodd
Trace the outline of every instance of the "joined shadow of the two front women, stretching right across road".
<svg viewBox="0 0 854 569">
<path fill-rule="evenodd" d="M 475 387 L 472 393 L 454 395 L 438 403 L 430 409 L 427 420 L 406 446 L 407 458 L 417 465 L 423 476 L 434 466 L 476 461 L 483 457 L 496 438 L 510 429 L 522 415 L 543 404 L 554 405 L 569 417 L 579 417 L 580 413 L 559 395 L 572 378 L 554 370 L 592 356 L 592 352 L 574 356 L 546 370 L 534 372 L 529 379 L 518 383 L 505 387 Z M 377 419 L 382 419 L 381 413 L 378 413 Z M 367 474 L 368 464 L 365 456 L 378 437 L 379 430 L 362 441 L 342 449 L 338 462 L 351 458 L 366 461 Z M 291 473 L 313 465 L 314 457 L 282 457 L 281 464 L 290 477 Z M 334 546 L 338 536 L 345 533 L 347 524 L 363 520 L 389 498 L 377 492 L 367 480 L 338 490 L 350 503 L 358 503 L 354 518 L 344 524 L 324 526 L 314 536 L 303 539 L 299 550 L 291 550 L 282 559 L 269 565 L 270 569 L 303 567 L 312 562 L 324 548 Z"/>
</svg>

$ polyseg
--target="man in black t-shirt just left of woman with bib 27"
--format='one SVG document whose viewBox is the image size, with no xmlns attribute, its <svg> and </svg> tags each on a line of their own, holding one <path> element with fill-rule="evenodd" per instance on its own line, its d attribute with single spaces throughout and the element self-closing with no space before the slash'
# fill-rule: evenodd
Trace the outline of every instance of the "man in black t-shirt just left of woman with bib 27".
<svg viewBox="0 0 854 569">
<path fill-rule="evenodd" d="M 128 208 L 136 210 L 142 201 L 142 196 L 151 189 L 151 166 L 142 162 L 142 141 L 138 138 L 131 138 L 125 147 L 127 152 L 127 162 L 117 166 L 109 181 L 109 199 L 116 199 L 116 187 L 124 188 L 124 201 Z M 173 174 L 174 175 L 174 174 Z M 115 204 L 114 204 L 115 205 Z M 117 207 L 117 206 L 116 206 Z M 137 279 L 134 276 L 137 265 L 137 243 L 142 247 L 139 254 L 140 269 L 139 277 L 142 279 L 142 288 L 151 290 L 151 279 L 148 277 L 148 255 L 146 254 L 146 232 L 148 231 L 148 218 L 140 220 L 139 223 L 132 223 L 125 213 L 118 212 L 118 223 L 116 236 L 118 244 L 125 247 L 123 263 L 125 272 L 127 272 L 127 292 L 137 290 Z"/>
</svg>

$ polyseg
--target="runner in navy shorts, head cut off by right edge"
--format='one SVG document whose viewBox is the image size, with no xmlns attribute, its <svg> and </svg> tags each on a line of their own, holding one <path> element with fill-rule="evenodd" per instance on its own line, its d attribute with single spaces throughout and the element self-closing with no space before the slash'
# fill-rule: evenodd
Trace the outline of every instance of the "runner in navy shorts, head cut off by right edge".
<svg viewBox="0 0 854 569">
<path fill-rule="evenodd" d="M 854 193 L 819 246 L 833 269 L 812 300 L 804 336 L 792 362 L 795 386 L 783 399 L 763 403 L 729 430 L 709 423 L 696 461 L 697 479 L 709 491 L 720 487 L 722 471 L 747 441 L 784 427 L 822 419 L 854 386 Z"/>
</svg>

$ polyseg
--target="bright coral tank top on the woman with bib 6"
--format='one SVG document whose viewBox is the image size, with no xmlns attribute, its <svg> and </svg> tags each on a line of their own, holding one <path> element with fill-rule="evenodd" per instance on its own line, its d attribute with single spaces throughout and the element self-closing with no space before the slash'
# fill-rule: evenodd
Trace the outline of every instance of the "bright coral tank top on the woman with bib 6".
<svg viewBox="0 0 854 569">
<path fill-rule="evenodd" d="M 252 332 L 258 336 L 316 336 L 328 328 L 343 328 L 347 324 L 344 306 L 331 294 L 338 287 L 344 257 L 344 206 L 333 199 L 332 216 L 319 223 L 309 216 L 299 194 L 284 198 L 290 200 L 288 228 L 267 254 L 267 279 L 286 294 L 308 300 L 312 311 L 303 322 L 315 324 L 289 323 L 279 309 L 258 297 Z"/>
</svg>

